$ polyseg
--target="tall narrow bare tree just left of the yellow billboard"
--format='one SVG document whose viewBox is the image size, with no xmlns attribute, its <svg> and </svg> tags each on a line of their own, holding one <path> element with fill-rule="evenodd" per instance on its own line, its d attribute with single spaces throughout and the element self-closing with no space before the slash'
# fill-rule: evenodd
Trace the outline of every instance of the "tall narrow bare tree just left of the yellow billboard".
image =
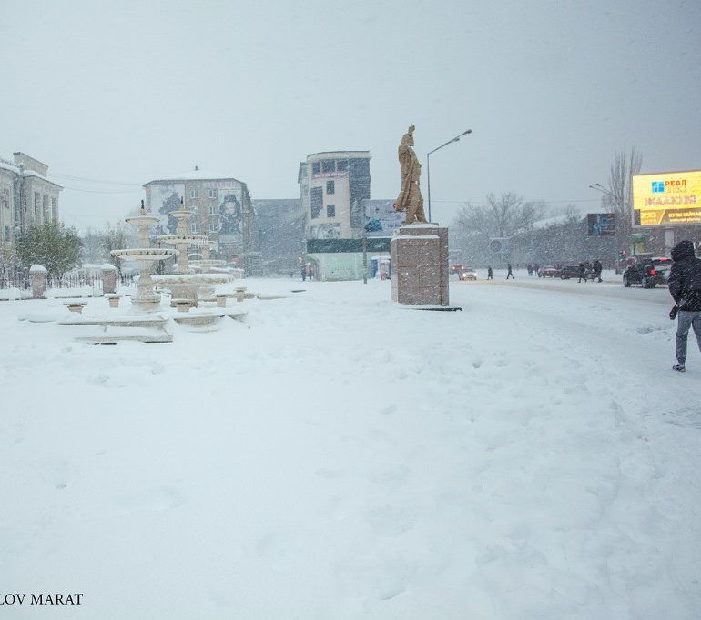
<svg viewBox="0 0 701 620">
<path fill-rule="evenodd" d="M 616 242 L 619 249 L 628 245 L 628 235 L 631 232 L 633 205 L 633 190 L 631 177 L 640 172 L 643 165 L 643 155 L 631 148 L 616 152 L 614 161 L 609 169 L 607 187 L 601 197 L 601 205 L 609 213 L 615 213 Z"/>
</svg>

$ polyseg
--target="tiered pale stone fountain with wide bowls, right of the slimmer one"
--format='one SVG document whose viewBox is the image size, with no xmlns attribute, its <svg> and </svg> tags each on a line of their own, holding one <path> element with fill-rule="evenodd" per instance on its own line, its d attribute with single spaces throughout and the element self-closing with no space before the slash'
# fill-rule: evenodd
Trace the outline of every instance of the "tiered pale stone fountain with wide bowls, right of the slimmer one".
<svg viewBox="0 0 701 620">
<path fill-rule="evenodd" d="M 173 299 L 190 299 L 197 306 L 198 290 L 202 295 L 210 295 L 215 285 L 231 282 L 234 278 L 229 274 L 193 274 L 188 260 L 188 247 L 190 245 L 203 247 L 204 252 L 207 253 L 203 256 L 208 257 L 209 238 L 207 235 L 188 233 L 188 219 L 195 214 L 183 207 L 182 199 L 180 199 L 180 208 L 177 211 L 171 211 L 170 215 L 178 220 L 175 235 L 159 235 L 157 240 L 167 245 L 175 245 L 179 252 L 178 270 L 170 275 L 156 275 L 154 279 L 157 284 L 170 290 Z M 214 261 L 193 261 L 199 264 L 211 262 Z"/>
</svg>

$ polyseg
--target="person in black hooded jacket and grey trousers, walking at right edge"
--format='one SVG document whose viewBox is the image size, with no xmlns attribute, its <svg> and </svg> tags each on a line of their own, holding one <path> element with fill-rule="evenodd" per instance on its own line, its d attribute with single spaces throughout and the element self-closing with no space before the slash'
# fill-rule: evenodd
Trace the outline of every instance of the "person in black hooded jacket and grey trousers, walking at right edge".
<svg viewBox="0 0 701 620">
<path fill-rule="evenodd" d="M 694 244 L 680 241 L 672 250 L 672 269 L 667 278 L 669 294 L 676 302 L 676 362 L 673 370 L 686 370 L 686 340 L 694 328 L 701 351 L 701 259 L 696 258 Z"/>
</svg>

